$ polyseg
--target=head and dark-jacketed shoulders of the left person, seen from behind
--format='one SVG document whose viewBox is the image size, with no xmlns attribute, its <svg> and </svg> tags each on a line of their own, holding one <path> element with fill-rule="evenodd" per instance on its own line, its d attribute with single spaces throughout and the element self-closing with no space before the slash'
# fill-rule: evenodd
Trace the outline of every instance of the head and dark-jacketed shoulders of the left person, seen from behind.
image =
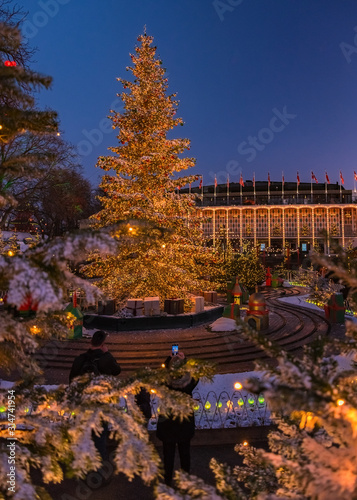
<svg viewBox="0 0 357 500">
<path fill-rule="evenodd" d="M 114 356 L 108 351 L 106 339 L 108 334 L 103 330 L 94 332 L 88 351 L 77 356 L 69 374 L 71 383 L 75 377 L 83 375 L 82 368 L 87 360 L 95 360 L 98 371 L 101 375 L 119 375 L 120 365 L 116 362 Z"/>
</svg>

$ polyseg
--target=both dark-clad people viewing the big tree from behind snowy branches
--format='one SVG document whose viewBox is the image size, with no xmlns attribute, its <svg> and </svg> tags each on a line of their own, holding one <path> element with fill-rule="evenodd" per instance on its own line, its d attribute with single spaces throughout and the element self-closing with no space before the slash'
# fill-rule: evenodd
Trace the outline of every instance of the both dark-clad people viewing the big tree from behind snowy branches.
<svg viewBox="0 0 357 500">
<path fill-rule="evenodd" d="M 119 363 L 109 352 L 106 344 L 108 334 L 103 330 L 94 332 L 89 348 L 86 352 L 77 356 L 69 374 L 71 383 L 76 377 L 85 374 L 113 375 L 121 372 Z M 188 372 L 177 376 L 177 370 L 186 363 L 183 352 L 171 353 L 165 360 L 165 367 L 169 372 L 168 388 L 173 391 L 182 392 L 192 397 L 192 391 L 198 384 L 198 380 L 191 377 Z M 150 394 L 141 389 L 136 396 L 136 403 L 140 407 L 146 421 L 151 418 Z M 159 416 L 156 435 L 163 445 L 164 480 L 167 485 L 172 483 L 176 445 L 178 447 L 181 469 L 190 472 L 190 442 L 195 433 L 195 420 L 193 413 L 187 419 L 180 420 L 173 416 Z M 108 426 L 103 423 L 103 431 L 99 436 L 92 432 L 93 442 L 102 458 L 108 459 L 107 440 L 109 437 Z"/>
</svg>

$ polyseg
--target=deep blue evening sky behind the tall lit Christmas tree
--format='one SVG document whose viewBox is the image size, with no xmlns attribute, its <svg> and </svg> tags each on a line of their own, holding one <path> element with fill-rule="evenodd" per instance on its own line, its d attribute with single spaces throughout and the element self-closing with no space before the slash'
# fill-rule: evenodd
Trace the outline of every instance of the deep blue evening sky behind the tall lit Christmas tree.
<svg viewBox="0 0 357 500">
<path fill-rule="evenodd" d="M 115 103 L 137 36 L 154 36 L 178 93 L 189 155 L 204 184 L 310 181 L 345 187 L 357 171 L 355 0 L 19 0 L 36 69 L 53 76 L 41 105 L 59 112 L 93 185 L 114 131 L 92 132 Z M 47 11 L 47 13 L 46 13 Z M 58 12 L 57 12 L 58 11 Z M 356 28 L 355 28 L 356 27 Z M 356 45 L 355 45 L 356 42 Z M 342 45 L 341 45 L 342 44 Z M 283 115 L 283 118 L 278 118 Z M 277 118 L 275 118 L 277 117 Z M 254 139 L 254 137 L 256 139 Z M 95 144 L 91 143 L 95 142 Z M 251 144 L 249 144 L 249 142 Z M 190 172 L 191 173 L 191 172 Z M 193 173 L 193 172 L 192 172 Z"/>
</svg>

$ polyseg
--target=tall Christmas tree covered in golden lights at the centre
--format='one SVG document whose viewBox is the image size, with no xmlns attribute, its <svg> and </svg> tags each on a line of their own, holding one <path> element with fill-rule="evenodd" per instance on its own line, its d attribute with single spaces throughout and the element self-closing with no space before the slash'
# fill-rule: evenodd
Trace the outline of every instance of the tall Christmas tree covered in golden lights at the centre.
<svg viewBox="0 0 357 500">
<path fill-rule="evenodd" d="M 179 194 L 180 187 L 197 176 L 177 177 L 194 166 L 193 158 L 180 155 L 190 149 L 188 139 L 172 139 L 168 133 L 179 125 L 176 94 L 167 95 L 168 83 L 162 61 L 156 57 L 153 38 L 139 36 L 131 56 L 134 81 L 119 78 L 124 89 L 118 94 L 124 113 L 110 116 L 118 129 L 115 155 L 101 157 L 98 166 L 110 173 L 103 176 L 100 197 L 103 209 L 96 214 L 96 226 L 106 227 L 131 220 L 128 233 L 138 221 L 158 230 L 163 237 L 122 247 L 115 257 L 95 258 L 90 276 L 100 277 L 100 287 L 108 296 L 159 295 L 185 297 L 208 286 L 200 277 L 213 275 L 211 264 L 219 257 L 203 247 L 200 220 L 195 217 L 194 199 Z M 216 260 L 216 262 L 214 262 Z"/>
</svg>

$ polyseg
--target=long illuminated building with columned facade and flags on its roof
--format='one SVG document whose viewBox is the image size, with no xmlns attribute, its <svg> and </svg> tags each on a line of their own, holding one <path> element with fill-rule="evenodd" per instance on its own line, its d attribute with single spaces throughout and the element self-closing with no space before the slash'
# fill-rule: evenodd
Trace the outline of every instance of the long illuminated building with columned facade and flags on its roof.
<svg viewBox="0 0 357 500">
<path fill-rule="evenodd" d="M 187 190 L 182 190 L 187 192 Z M 308 252 L 319 246 L 330 253 L 330 239 L 357 246 L 355 194 L 341 185 L 256 182 L 193 188 L 204 235 L 214 243 L 244 240 L 261 249 Z"/>
</svg>

